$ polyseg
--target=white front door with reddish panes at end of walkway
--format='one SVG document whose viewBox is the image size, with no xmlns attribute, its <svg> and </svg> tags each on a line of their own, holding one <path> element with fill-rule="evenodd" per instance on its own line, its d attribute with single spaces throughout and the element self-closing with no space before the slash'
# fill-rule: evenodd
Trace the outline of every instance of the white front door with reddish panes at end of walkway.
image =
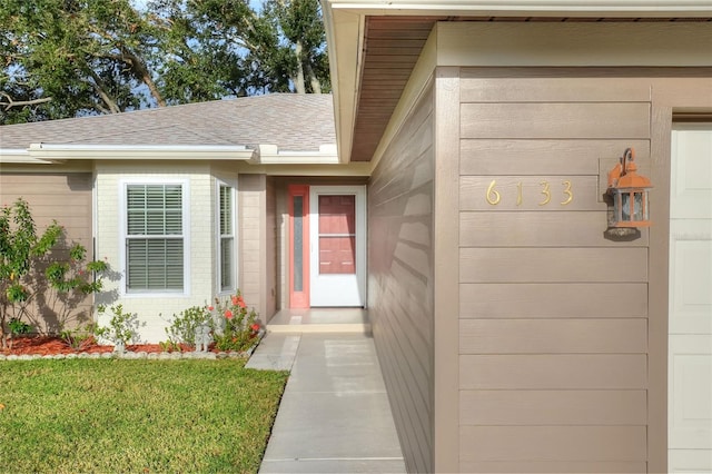
<svg viewBox="0 0 712 474">
<path fill-rule="evenodd" d="M 309 189 L 310 305 L 364 306 L 366 188 Z"/>
</svg>

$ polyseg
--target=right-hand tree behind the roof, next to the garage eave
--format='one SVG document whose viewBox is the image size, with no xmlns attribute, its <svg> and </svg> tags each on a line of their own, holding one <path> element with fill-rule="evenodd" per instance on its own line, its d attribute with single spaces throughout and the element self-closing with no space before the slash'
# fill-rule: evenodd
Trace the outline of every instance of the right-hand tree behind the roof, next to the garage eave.
<svg viewBox="0 0 712 474">
<path fill-rule="evenodd" d="M 266 0 L 259 8 L 247 0 L 156 0 L 149 6 L 169 12 L 167 22 L 181 40 L 170 42 L 174 49 L 161 69 L 167 89 L 177 83 L 170 79 L 197 70 L 233 96 L 330 90 L 318 0 Z M 210 72 L 206 56 L 212 60 Z"/>
</svg>

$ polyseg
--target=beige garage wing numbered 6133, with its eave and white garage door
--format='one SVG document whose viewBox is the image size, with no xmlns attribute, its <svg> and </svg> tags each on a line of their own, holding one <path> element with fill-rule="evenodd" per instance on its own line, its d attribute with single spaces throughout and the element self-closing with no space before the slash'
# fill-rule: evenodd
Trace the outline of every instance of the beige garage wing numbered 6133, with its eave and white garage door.
<svg viewBox="0 0 712 474">
<path fill-rule="evenodd" d="M 325 2 L 409 471 L 712 468 L 710 13 Z M 626 148 L 653 225 L 620 239 Z"/>
</svg>

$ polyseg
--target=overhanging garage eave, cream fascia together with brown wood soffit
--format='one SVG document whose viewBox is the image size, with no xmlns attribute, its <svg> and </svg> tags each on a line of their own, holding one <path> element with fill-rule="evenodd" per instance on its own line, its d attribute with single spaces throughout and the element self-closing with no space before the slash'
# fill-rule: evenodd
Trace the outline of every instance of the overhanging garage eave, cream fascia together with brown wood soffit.
<svg viewBox="0 0 712 474">
<path fill-rule="evenodd" d="M 646 4 L 644 4 L 646 3 Z M 323 0 L 342 162 L 370 161 L 438 21 L 711 21 L 709 0 Z"/>
</svg>

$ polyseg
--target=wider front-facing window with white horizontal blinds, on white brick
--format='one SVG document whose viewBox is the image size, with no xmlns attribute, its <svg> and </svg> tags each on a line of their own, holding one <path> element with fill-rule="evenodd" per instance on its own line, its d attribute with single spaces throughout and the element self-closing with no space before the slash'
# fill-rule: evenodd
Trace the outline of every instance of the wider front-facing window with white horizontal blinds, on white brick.
<svg viewBox="0 0 712 474">
<path fill-rule="evenodd" d="M 127 293 L 184 292 L 184 187 L 126 186 Z"/>
</svg>

